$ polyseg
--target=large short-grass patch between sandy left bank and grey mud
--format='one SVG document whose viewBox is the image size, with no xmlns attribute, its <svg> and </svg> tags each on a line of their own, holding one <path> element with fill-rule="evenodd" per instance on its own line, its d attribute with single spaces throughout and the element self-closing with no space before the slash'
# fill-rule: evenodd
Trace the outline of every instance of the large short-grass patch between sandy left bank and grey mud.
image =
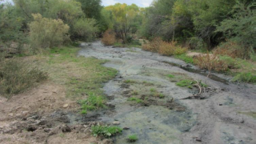
<svg viewBox="0 0 256 144">
<path fill-rule="evenodd" d="M 66 96 L 79 101 L 82 114 L 104 107 L 103 83 L 117 74 L 117 70 L 102 66 L 106 60 L 77 57 L 79 48 L 50 49 L 46 54 L 30 57 L 49 74 L 50 80 L 66 87 Z"/>
</svg>

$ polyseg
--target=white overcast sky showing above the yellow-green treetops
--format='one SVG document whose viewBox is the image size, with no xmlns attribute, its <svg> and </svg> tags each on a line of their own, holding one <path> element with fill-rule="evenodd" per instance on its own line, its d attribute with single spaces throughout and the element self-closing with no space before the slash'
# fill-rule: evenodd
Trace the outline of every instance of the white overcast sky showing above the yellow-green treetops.
<svg viewBox="0 0 256 144">
<path fill-rule="evenodd" d="M 3 0 L 2 2 L 11 2 L 11 0 Z M 150 6 L 150 4 L 151 4 L 151 2 L 153 2 L 153 0 L 102 0 L 102 5 L 110 6 L 110 5 L 114 5 L 115 3 L 118 3 L 118 2 L 119 3 L 127 3 L 128 5 L 134 3 L 140 7 L 147 7 L 147 6 Z"/>
</svg>

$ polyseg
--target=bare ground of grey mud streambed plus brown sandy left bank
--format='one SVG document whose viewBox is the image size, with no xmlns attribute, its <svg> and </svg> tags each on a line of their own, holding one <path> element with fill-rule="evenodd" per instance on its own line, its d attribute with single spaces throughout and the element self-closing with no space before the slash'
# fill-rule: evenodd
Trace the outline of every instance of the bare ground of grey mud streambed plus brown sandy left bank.
<svg viewBox="0 0 256 144">
<path fill-rule="evenodd" d="M 124 144 L 130 134 L 143 144 L 256 143 L 254 85 L 231 83 L 222 74 L 207 78 L 195 66 L 138 48 L 82 43 L 78 55 L 106 59 L 104 66 L 118 70 L 101 89 L 108 108 L 79 114 L 77 99 L 66 97 L 74 94 L 66 94 L 72 83 L 62 80 L 87 79 L 79 75 L 80 69 L 62 62 L 62 78 L 54 79 L 53 70 L 54 80 L 9 100 L 0 97 L 0 143 Z M 196 86 L 178 85 L 186 80 L 203 84 L 201 98 L 192 98 L 198 94 Z M 94 138 L 90 126 L 97 123 L 124 130 L 110 139 Z"/>
</svg>

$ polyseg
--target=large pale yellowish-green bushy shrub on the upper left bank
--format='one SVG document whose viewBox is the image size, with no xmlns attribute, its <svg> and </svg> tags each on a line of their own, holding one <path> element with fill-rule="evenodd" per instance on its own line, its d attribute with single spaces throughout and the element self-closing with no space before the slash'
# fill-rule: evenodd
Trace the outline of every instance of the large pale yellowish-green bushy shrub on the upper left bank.
<svg viewBox="0 0 256 144">
<path fill-rule="evenodd" d="M 30 44 L 33 48 L 47 48 L 62 45 L 69 38 L 70 26 L 61 19 L 42 18 L 41 14 L 32 14 L 34 22 L 30 23 Z"/>
</svg>

